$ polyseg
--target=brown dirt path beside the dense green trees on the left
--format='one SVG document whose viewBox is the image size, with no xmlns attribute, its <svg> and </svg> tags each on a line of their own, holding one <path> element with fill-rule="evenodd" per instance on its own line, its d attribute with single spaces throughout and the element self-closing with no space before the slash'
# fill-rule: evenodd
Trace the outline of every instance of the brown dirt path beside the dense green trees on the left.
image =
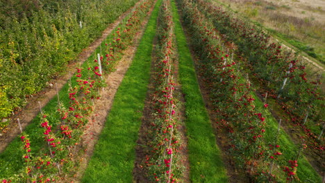
<svg viewBox="0 0 325 183">
<path fill-rule="evenodd" d="M 137 4 L 135 4 L 135 6 Z M 28 98 L 28 104 L 22 110 L 15 112 L 15 114 L 9 119 L 11 122 L 8 127 L 3 130 L 2 133 L 0 132 L 0 153 L 2 153 L 3 150 L 6 149 L 6 146 L 8 146 L 8 144 L 12 141 L 12 139 L 15 139 L 15 137 L 20 133 L 17 119 L 19 119 L 20 123 L 22 123 L 22 129 L 24 130 L 24 128 L 26 128 L 26 126 L 35 118 L 35 116 L 38 115 L 38 112 L 40 112 L 39 102 L 41 107 L 47 105 L 51 98 L 56 96 L 56 85 L 58 87 L 58 90 L 62 89 L 63 85 L 65 85 L 69 78 L 74 75 L 74 72 L 76 71 L 76 65 L 85 62 L 85 60 L 90 57 L 94 50 L 97 49 L 101 42 L 106 39 L 112 30 L 119 25 L 122 19 L 124 19 L 124 17 L 126 17 L 126 15 L 128 15 L 132 9 L 133 7 L 124 12 L 113 24 L 110 24 L 108 28 L 103 31 L 101 37 L 92 42 L 92 44 L 90 44 L 87 49 L 83 49 L 83 51 L 78 55 L 76 61 L 70 63 L 67 66 L 67 74 L 51 80 L 49 82 L 51 86 L 47 87 L 46 89 L 42 90 L 42 92 L 39 92 L 31 98 Z"/>
</svg>

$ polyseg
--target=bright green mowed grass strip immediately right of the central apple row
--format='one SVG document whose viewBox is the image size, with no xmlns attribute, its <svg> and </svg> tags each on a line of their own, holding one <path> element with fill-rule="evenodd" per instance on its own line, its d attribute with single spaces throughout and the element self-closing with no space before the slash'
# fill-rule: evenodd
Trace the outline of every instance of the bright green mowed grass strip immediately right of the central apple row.
<svg viewBox="0 0 325 183">
<path fill-rule="evenodd" d="M 217 147 L 215 134 L 199 89 L 190 49 L 185 39 L 175 1 L 173 20 L 179 57 L 179 78 L 185 94 L 185 125 L 192 182 L 228 182 L 226 168 Z"/>
</svg>

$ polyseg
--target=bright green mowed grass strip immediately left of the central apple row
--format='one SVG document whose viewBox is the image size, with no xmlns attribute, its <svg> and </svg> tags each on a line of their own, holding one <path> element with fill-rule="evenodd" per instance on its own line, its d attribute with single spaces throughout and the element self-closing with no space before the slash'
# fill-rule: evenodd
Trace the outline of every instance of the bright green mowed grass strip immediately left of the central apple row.
<svg viewBox="0 0 325 183">
<path fill-rule="evenodd" d="M 162 0 L 157 1 L 133 62 L 117 90 L 82 182 L 133 182 L 135 146 L 149 84 L 153 37 L 161 3 Z"/>
</svg>

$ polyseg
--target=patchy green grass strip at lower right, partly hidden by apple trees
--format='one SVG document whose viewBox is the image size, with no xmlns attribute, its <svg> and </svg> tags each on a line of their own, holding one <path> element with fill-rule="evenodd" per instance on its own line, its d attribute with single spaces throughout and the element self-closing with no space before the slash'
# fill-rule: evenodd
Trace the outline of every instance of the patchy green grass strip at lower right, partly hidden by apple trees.
<svg viewBox="0 0 325 183">
<path fill-rule="evenodd" d="M 254 98 L 256 98 L 254 101 L 254 104 L 256 105 L 256 111 L 263 111 L 263 114 L 266 114 L 265 121 L 267 123 L 267 129 L 265 130 L 265 140 L 268 142 L 274 141 L 278 130 L 278 121 L 274 119 L 274 116 L 272 116 L 268 109 L 265 109 L 265 107 L 263 107 L 264 104 L 262 101 L 260 101 L 260 98 L 258 98 L 254 92 L 251 92 L 251 94 Z M 279 150 L 281 153 L 283 153 L 283 157 L 280 159 L 295 160 L 294 157 L 297 156 L 299 147 L 294 145 L 292 139 L 282 128 L 278 137 L 278 145 L 281 146 Z M 289 164 L 287 166 L 289 166 Z M 298 159 L 297 175 L 301 182 L 322 182 L 322 178 L 317 174 L 313 166 L 310 165 L 306 157 L 303 156 Z"/>
</svg>

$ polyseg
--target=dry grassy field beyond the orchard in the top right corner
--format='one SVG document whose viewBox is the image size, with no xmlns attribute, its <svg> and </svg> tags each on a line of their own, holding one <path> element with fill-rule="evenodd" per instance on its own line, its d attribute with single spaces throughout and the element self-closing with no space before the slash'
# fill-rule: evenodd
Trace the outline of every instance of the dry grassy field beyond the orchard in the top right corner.
<svg viewBox="0 0 325 183">
<path fill-rule="evenodd" d="M 324 0 L 218 0 L 324 64 Z"/>
</svg>

